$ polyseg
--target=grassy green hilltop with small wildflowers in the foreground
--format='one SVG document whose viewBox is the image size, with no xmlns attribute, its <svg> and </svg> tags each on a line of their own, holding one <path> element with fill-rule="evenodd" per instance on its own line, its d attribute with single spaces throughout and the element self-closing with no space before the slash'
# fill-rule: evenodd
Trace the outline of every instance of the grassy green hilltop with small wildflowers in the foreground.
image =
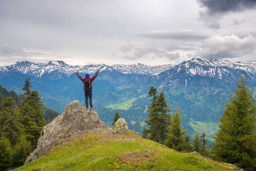
<svg viewBox="0 0 256 171">
<path fill-rule="evenodd" d="M 125 135 L 82 135 L 15 170 L 238 170 Z"/>
</svg>

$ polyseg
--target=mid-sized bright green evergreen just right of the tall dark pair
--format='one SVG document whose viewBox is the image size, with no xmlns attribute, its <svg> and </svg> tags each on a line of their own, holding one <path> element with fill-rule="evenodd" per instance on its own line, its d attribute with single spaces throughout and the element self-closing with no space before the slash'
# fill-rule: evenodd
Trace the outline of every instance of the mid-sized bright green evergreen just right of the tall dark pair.
<svg viewBox="0 0 256 171">
<path fill-rule="evenodd" d="M 172 119 L 170 119 L 170 128 L 165 145 L 174 150 L 181 151 L 184 148 L 186 131 L 182 131 L 182 116 L 180 116 L 179 110 L 180 108 L 176 106 L 175 112 L 172 112 Z"/>
</svg>

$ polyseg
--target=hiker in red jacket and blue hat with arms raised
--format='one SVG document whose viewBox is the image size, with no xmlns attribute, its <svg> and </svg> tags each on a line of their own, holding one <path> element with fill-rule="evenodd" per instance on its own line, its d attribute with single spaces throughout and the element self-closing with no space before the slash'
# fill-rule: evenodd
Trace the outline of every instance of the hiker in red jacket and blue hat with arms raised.
<svg viewBox="0 0 256 171">
<path fill-rule="evenodd" d="M 86 97 L 86 109 L 88 110 L 88 97 L 89 97 L 89 101 L 90 101 L 90 110 L 92 110 L 92 82 L 96 79 L 97 74 L 99 74 L 99 68 L 97 68 L 97 72 L 96 74 L 90 78 L 89 74 L 86 74 L 86 78 L 82 78 L 82 76 L 80 76 L 78 74 L 78 70 L 76 70 L 76 75 L 78 76 L 78 78 L 84 83 L 84 96 Z"/>
</svg>

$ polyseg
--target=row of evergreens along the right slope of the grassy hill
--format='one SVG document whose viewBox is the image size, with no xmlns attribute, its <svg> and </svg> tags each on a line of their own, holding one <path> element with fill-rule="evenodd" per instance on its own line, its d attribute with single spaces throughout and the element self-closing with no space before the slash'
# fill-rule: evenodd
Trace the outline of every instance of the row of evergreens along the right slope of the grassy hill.
<svg viewBox="0 0 256 171">
<path fill-rule="evenodd" d="M 188 133 L 183 131 L 180 108 L 171 111 L 166 103 L 164 92 L 157 95 L 157 88 L 151 87 L 148 109 L 148 129 L 143 137 L 168 148 L 183 152 L 196 151 L 214 160 L 235 164 L 245 170 L 256 170 L 256 100 L 254 88 L 249 85 L 245 76 L 238 78 L 235 88 L 230 91 L 232 97 L 225 102 L 223 115 L 220 117 L 216 140 L 212 148 L 208 147 L 205 133 L 194 135 L 192 143 Z M 172 112 L 169 115 L 168 112 Z"/>
</svg>

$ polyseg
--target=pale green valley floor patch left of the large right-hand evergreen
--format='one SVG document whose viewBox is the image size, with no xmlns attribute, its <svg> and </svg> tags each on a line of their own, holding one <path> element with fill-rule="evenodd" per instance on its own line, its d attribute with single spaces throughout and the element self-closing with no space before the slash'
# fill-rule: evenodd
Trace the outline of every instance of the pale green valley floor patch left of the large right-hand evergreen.
<svg viewBox="0 0 256 171">
<path fill-rule="evenodd" d="M 198 135 L 202 135 L 202 133 L 206 134 L 206 139 L 208 141 L 214 142 L 215 133 L 220 129 L 217 123 L 213 122 L 201 122 L 201 121 L 193 121 L 190 120 L 189 125 L 194 129 L 194 131 L 198 132 Z"/>
</svg>

